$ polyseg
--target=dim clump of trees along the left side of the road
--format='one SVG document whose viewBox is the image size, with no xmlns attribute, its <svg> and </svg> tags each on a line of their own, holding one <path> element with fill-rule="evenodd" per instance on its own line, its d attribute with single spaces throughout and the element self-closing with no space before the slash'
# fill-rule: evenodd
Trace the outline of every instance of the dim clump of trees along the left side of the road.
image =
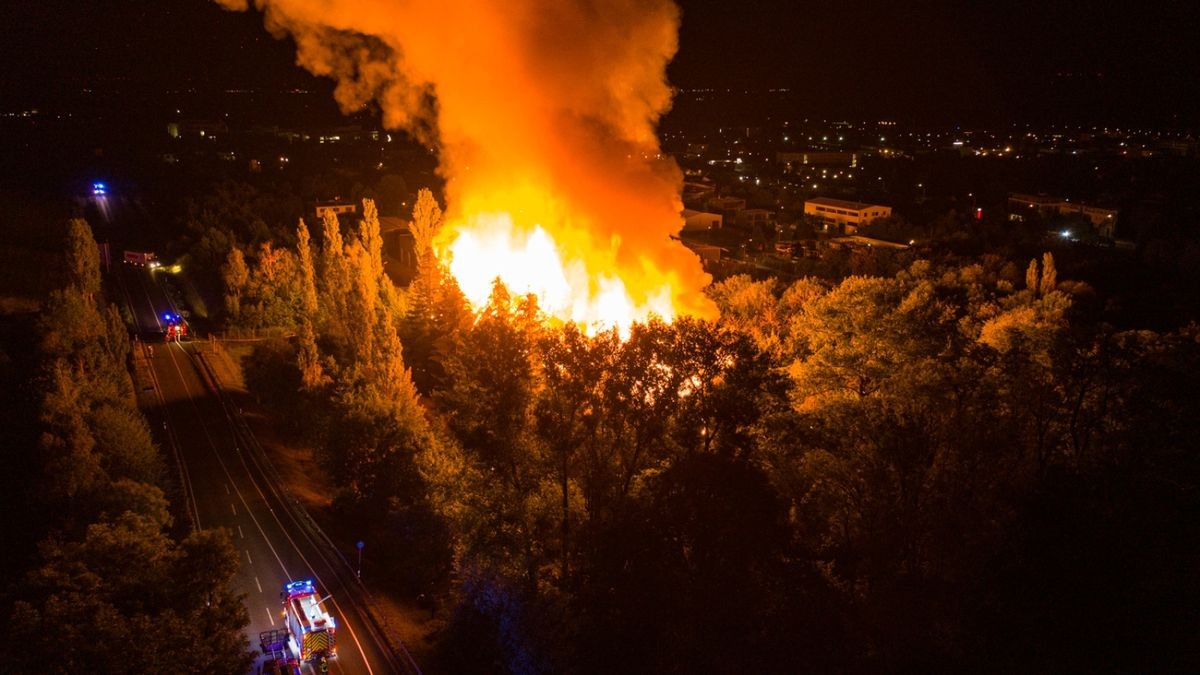
<svg viewBox="0 0 1200 675">
<path fill-rule="evenodd" d="M 40 437 L 22 506 L 41 543 L 6 589 L 0 669 L 246 671 L 248 617 L 229 591 L 239 558 L 226 532 L 173 522 L 86 222 L 70 223 L 65 257 L 67 285 L 44 303 L 30 357 Z"/>
</svg>

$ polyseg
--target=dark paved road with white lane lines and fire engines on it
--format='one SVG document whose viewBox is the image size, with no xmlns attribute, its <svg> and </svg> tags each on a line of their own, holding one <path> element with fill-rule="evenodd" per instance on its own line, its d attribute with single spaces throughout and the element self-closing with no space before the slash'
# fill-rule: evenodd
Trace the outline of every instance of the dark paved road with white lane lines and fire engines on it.
<svg viewBox="0 0 1200 675">
<path fill-rule="evenodd" d="M 323 596 L 332 595 L 326 607 L 337 621 L 338 650 L 330 671 L 414 671 L 365 616 L 353 569 L 274 489 L 271 468 L 238 411 L 218 395 L 197 346 L 163 341 L 162 316 L 173 309 L 151 273 L 122 265 L 119 279 L 157 392 L 151 424 L 178 458 L 190 516 L 202 528 L 228 528 L 241 557 L 234 585 L 246 596 L 251 646 L 259 632 L 282 627 L 283 584 L 311 578 Z"/>
</svg>

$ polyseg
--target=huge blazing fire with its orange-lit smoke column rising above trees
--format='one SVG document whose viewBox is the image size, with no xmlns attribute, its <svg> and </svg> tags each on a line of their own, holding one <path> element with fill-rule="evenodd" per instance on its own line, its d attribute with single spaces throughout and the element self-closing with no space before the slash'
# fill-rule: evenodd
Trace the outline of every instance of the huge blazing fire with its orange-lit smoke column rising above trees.
<svg viewBox="0 0 1200 675">
<path fill-rule="evenodd" d="M 218 0 L 246 8 L 246 0 Z M 498 276 L 565 321 L 710 316 L 708 275 L 671 239 L 676 163 L 655 125 L 679 22 L 671 0 L 254 0 L 344 110 L 437 147 L 434 243 L 467 298 Z"/>
</svg>

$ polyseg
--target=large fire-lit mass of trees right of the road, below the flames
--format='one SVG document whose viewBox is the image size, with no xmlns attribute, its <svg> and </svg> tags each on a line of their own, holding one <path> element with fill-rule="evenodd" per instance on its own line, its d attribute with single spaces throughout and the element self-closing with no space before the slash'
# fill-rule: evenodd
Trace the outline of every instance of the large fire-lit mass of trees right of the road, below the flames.
<svg viewBox="0 0 1200 675">
<path fill-rule="evenodd" d="M 472 315 L 428 193 L 394 289 L 365 211 L 229 309 L 287 298 L 250 380 L 397 587 L 448 589 L 448 671 L 1200 665 L 1196 329 L 1114 330 L 1048 255 L 589 336 L 500 286 Z"/>
</svg>

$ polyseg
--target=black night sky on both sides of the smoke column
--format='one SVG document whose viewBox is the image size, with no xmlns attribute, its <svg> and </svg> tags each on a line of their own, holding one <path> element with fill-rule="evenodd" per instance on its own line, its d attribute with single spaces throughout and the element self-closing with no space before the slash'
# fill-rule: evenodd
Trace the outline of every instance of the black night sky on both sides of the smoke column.
<svg viewBox="0 0 1200 675">
<path fill-rule="evenodd" d="M 4 101 L 80 88 L 322 86 L 259 17 L 206 0 L 5 10 Z M 671 80 L 790 88 L 817 115 L 910 121 L 1200 120 L 1190 2 L 684 0 Z M 5 106 L 6 108 L 10 106 Z"/>
</svg>

